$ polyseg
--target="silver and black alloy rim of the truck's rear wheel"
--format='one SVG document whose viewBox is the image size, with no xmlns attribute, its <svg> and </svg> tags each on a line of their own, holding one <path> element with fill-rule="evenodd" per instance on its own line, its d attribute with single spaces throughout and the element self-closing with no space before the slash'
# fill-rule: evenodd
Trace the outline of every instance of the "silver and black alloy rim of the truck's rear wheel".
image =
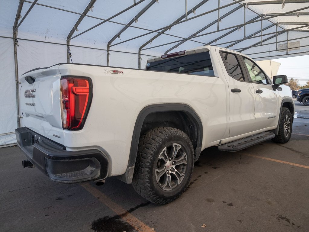
<svg viewBox="0 0 309 232">
<path fill-rule="evenodd" d="M 188 157 L 178 143 L 166 146 L 159 155 L 155 169 L 155 178 L 165 191 L 175 189 L 183 181 L 187 169 Z"/>
</svg>

